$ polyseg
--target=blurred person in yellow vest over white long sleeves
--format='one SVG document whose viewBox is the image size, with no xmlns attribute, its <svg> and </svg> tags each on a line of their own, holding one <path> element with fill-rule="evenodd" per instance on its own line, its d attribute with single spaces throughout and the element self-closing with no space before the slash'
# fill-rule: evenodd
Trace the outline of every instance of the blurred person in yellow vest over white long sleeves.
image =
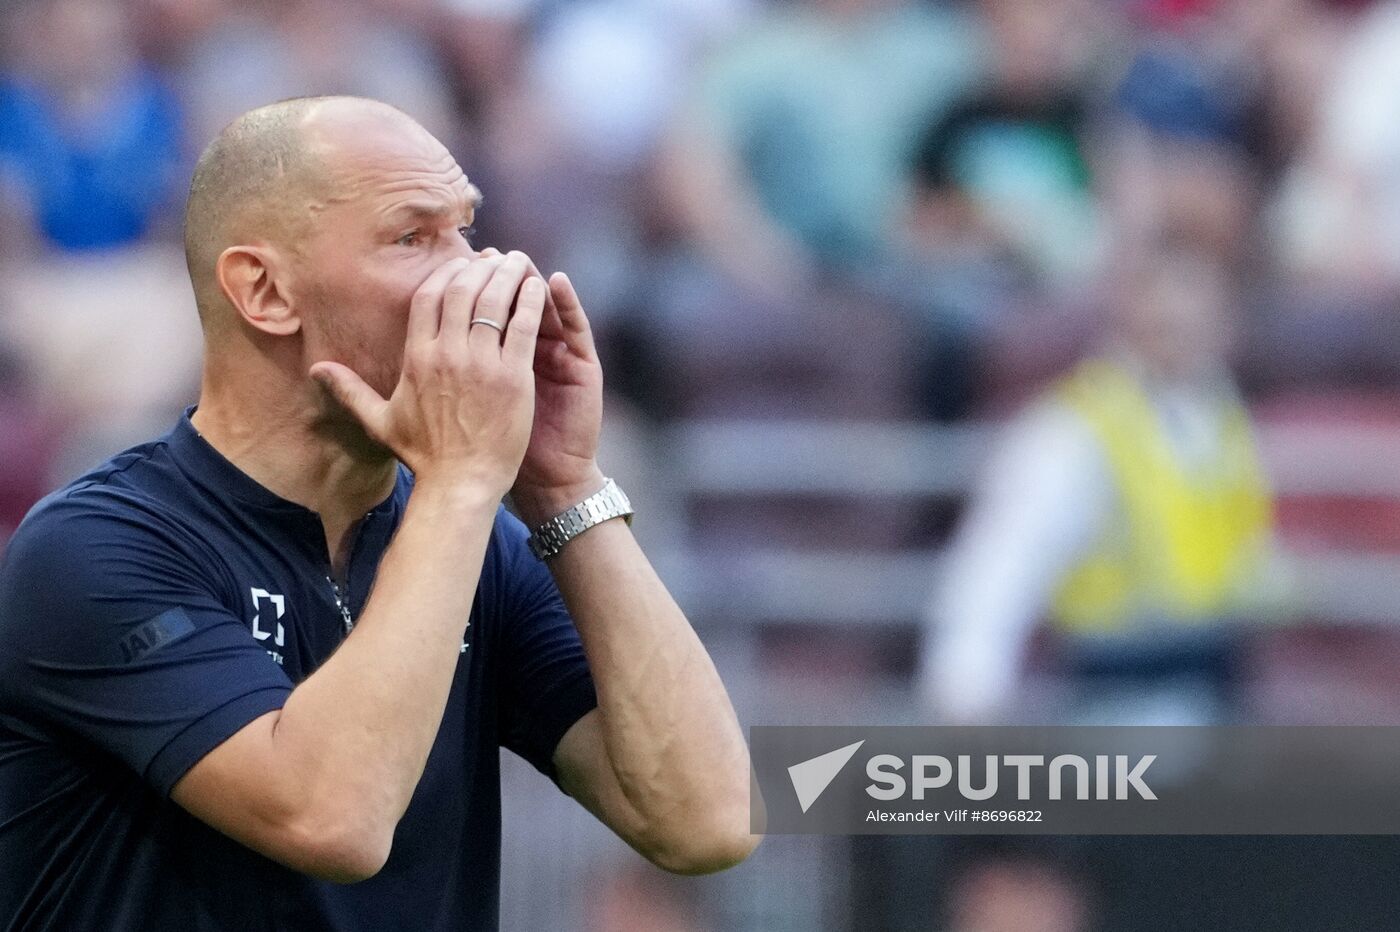
<svg viewBox="0 0 1400 932">
<path fill-rule="evenodd" d="M 1131 715 L 1134 697 L 1166 702 L 1148 716 L 1218 714 L 1235 662 L 1224 623 L 1267 596 L 1271 556 L 1270 494 L 1225 371 L 1233 301 L 1218 264 L 1154 256 L 1119 283 L 1103 354 L 1007 431 L 930 609 L 921 689 L 939 716 L 1016 715 L 1046 616 L 1078 714 L 1117 701 Z"/>
</svg>

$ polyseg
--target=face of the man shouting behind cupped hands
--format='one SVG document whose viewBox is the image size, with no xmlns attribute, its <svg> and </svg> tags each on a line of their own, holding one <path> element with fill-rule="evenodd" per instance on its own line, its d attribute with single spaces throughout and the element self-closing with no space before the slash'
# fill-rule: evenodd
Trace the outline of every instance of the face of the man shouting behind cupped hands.
<svg viewBox="0 0 1400 932">
<path fill-rule="evenodd" d="M 469 242 L 479 193 L 452 155 L 407 119 L 365 115 L 312 130 L 329 197 L 293 243 L 291 299 L 307 365 L 343 362 L 379 395 L 403 364 L 409 305 L 434 269 Z"/>
</svg>

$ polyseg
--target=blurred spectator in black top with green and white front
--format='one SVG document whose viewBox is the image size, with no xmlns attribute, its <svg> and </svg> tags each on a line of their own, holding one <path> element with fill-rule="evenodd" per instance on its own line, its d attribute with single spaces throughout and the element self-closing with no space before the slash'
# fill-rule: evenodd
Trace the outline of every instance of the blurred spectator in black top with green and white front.
<svg viewBox="0 0 1400 932">
<path fill-rule="evenodd" d="M 977 368 L 997 333 L 1043 330 L 1026 326 L 1030 313 L 1063 319 L 1103 253 L 1091 106 L 1110 18 L 1079 0 L 981 0 L 977 10 L 987 76 L 931 115 L 889 262 L 864 273 L 923 339 L 920 396 L 937 420 L 963 417 L 979 399 Z"/>
</svg>

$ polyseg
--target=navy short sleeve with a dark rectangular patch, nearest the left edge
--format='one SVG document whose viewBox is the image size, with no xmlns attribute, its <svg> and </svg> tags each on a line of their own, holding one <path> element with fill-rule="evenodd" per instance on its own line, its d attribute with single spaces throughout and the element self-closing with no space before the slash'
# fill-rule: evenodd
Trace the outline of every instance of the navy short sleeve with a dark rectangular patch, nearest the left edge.
<svg viewBox="0 0 1400 932">
<path fill-rule="evenodd" d="M 10 542 L 0 709 L 97 746 L 168 795 L 293 687 L 179 529 L 120 508 L 59 500 Z"/>
</svg>

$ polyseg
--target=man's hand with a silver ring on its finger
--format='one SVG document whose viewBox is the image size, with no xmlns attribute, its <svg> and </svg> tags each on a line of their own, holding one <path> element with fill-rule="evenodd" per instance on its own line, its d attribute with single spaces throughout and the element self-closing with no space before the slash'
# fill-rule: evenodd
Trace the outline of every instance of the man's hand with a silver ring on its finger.
<svg viewBox="0 0 1400 932">
<path fill-rule="evenodd" d="M 504 495 L 535 407 L 531 367 L 546 287 L 532 267 L 512 252 L 454 259 L 428 276 L 413 295 L 403 372 L 388 400 L 339 362 L 316 362 L 311 375 L 419 484 L 477 483 Z M 504 336 L 473 318 L 505 325 Z"/>
</svg>

